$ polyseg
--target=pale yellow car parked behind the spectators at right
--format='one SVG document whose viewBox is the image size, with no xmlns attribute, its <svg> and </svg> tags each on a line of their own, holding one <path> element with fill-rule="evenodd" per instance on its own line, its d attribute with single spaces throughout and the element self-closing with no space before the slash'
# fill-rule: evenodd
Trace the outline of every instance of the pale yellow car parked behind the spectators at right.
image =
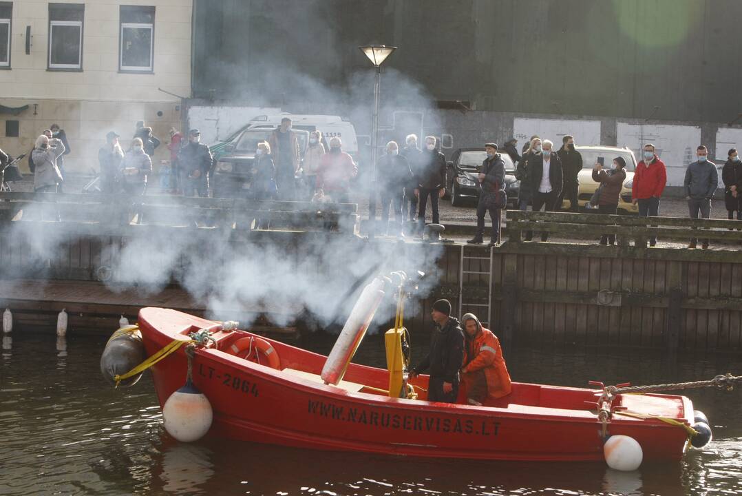
<svg viewBox="0 0 742 496">
<path fill-rule="evenodd" d="M 592 177 L 593 167 L 598 157 L 603 157 L 606 169 L 612 166 L 614 158 L 623 157 L 623 160 L 626 160 L 626 180 L 623 182 L 618 199 L 618 211 L 629 214 L 639 213 L 639 207 L 631 203 L 631 183 L 634 180 L 634 172 L 637 170 L 634 152 L 617 146 L 576 146 L 575 149 L 582 155 L 582 170 L 577 174 L 577 179 L 580 180 L 580 189 L 577 190 L 577 203 L 580 203 L 580 209 L 589 208 L 590 198 L 598 187 L 598 183 Z M 562 210 L 569 209 L 569 206 L 569 200 L 565 198 L 562 201 Z"/>
</svg>

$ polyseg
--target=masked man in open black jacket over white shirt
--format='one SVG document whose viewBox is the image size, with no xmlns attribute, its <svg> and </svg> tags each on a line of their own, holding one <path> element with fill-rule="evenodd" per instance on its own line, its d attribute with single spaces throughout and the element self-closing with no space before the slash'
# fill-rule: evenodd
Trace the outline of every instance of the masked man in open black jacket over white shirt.
<svg viewBox="0 0 742 496">
<path fill-rule="evenodd" d="M 528 159 L 531 169 L 531 190 L 533 191 L 533 212 L 542 208 L 545 212 L 557 210 L 557 199 L 562 192 L 562 163 L 559 155 L 551 151 L 554 143 L 544 140 L 541 155 L 534 155 Z M 541 233 L 541 241 L 548 240 L 548 232 Z M 533 239 L 533 231 L 525 234 L 525 241 Z"/>
</svg>

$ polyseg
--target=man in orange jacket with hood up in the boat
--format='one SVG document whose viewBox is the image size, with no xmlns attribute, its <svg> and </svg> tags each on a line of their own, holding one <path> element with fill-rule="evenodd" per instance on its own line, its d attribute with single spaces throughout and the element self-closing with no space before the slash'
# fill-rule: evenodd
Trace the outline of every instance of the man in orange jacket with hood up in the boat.
<svg viewBox="0 0 742 496">
<path fill-rule="evenodd" d="M 482 327 L 473 313 L 462 317 L 466 335 L 462 383 L 470 405 L 482 405 L 487 399 L 510 394 L 510 374 L 502 357 L 499 339 Z"/>
</svg>

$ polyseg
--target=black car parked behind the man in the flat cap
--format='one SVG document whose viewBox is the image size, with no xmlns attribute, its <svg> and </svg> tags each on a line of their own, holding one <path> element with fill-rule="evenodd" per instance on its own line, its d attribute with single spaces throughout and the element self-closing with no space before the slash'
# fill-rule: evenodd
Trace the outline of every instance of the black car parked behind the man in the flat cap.
<svg viewBox="0 0 742 496">
<path fill-rule="evenodd" d="M 482 190 L 477 180 L 478 169 L 487 157 L 483 148 L 460 148 L 453 152 L 446 170 L 446 191 L 450 195 L 451 205 L 462 206 L 464 200 L 476 200 Z M 515 165 L 510 155 L 501 153 L 505 162 L 505 192 L 508 194 L 508 205 L 518 203 L 520 182 L 515 178 Z"/>
</svg>

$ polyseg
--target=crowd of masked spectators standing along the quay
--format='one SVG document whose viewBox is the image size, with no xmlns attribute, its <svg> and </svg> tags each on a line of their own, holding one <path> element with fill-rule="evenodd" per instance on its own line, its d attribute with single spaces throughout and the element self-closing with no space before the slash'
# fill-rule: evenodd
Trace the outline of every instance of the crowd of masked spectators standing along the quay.
<svg viewBox="0 0 742 496">
<path fill-rule="evenodd" d="M 105 145 L 99 149 L 100 189 L 104 193 L 125 192 L 143 195 L 148 177 L 153 172 L 151 157 L 161 145 L 152 129 L 142 121 L 137 123 L 132 140 L 124 148 L 120 135 L 114 131 L 105 136 Z M 160 168 L 160 189 L 163 192 L 185 196 L 209 195 L 209 177 L 214 174 L 214 160 L 209 147 L 200 143 L 200 131 L 191 129 L 187 137 L 171 128 L 169 163 Z M 533 211 L 554 212 L 569 201 L 569 211 L 577 212 L 582 170 L 582 155 L 575 149 L 574 137 L 562 138 L 562 146 L 554 151 L 554 143 L 534 135 L 523 146 L 521 154 L 517 140 L 511 139 L 502 146 L 502 153 L 516 164 L 515 176 L 519 180 L 518 207 Z M 500 240 L 500 218 L 505 208 L 505 162 L 496 143 L 486 143 L 487 157 L 479 168 L 477 179 L 481 189 L 477 203 L 476 235 L 470 244 L 485 242 L 485 215 L 492 222 L 490 246 Z M 39 192 L 62 192 L 65 184 L 65 156 L 70 154 L 70 144 L 65 130 L 53 124 L 36 139 L 28 153 L 28 164 L 33 173 L 33 186 Z M 697 160 L 686 169 L 683 186 L 690 218 L 709 218 L 712 198 L 718 184 L 715 163 L 708 159 L 708 149 L 700 145 Z M 722 169 L 724 203 L 729 219 L 742 219 L 742 159 L 737 149 L 730 149 Z M 667 183 L 665 163 L 657 155 L 654 145 L 643 146 L 641 160 L 634 172 L 631 197 L 639 215 L 660 215 L 660 198 Z M 4 167 L 10 157 L 0 150 L 0 163 Z M 600 184 L 591 199 L 591 205 L 602 214 L 615 214 L 620 194 L 626 181 L 626 160 L 615 157 L 608 166 L 596 163 L 592 179 Z M 343 151 L 340 137 L 329 143 L 321 132 L 312 131 L 306 150 L 300 150 L 298 134 L 292 131 L 292 121 L 285 117 L 268 140 L 257 143 L 253 161 L 250 194 L 261 200 L 316 200 L 346 203 L 350 198 L 352 180 L 358 166 L 351 155 Z M 376 163 L 375 189 L 381 199 L 381 233 L 387 235 L 423 234 L 427 205 L 433 223 L 440 222 L 439 200 L 444 196 L 447 181 L 444 154 L 434 136 L 424 137 L 424 146 L 418 146 L 416 134 L 410 134 L 401 147 L 390 141 Z M 297 178 L 305 185 L 298 189 Z M 736 213 L 735 213 L 736 212 Z M 406 227 L 406 224 L 412 229 Z M 533 239 L 533 232 L 525 233 L 525 241 Z M 548 233 L 541 233 L 541 240 L 548 240 Z M 692 239 L 689 247 L 697 247 Z M 600 244 L 615 244 L 613 235 L 603 235 Z M 655 246 L 657 239 L 649 239 Z M 700 240 L 702 248 L 709 247 L 709 240 Z"/>
</svg>

